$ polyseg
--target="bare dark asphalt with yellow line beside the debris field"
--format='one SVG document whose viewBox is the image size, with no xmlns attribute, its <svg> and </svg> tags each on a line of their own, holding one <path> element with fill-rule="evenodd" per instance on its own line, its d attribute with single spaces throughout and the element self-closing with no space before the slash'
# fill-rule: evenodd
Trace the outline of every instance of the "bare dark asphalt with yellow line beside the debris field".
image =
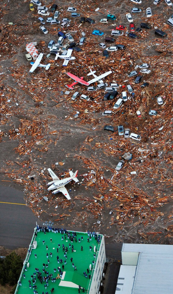
<svg viewBox="0 0 173 294">
<path fill-rule="evenodd" d="M 40 224 L 25 206 L 23 192 L 0 185 L 0 245 L 9 249 L 28 248 L 36 221 Z"/>
</svg>

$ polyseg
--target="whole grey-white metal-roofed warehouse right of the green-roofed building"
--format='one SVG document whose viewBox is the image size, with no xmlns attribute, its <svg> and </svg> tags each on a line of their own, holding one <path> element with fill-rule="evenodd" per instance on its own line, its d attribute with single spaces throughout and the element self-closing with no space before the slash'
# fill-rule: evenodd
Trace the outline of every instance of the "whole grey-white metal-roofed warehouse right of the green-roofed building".
<svg viewBox="0 0 173 294">
<path fill-rule="evenodd" d="M 173 293 L 173 246 L 123 244 L 115 294 Z"/>
</svg>

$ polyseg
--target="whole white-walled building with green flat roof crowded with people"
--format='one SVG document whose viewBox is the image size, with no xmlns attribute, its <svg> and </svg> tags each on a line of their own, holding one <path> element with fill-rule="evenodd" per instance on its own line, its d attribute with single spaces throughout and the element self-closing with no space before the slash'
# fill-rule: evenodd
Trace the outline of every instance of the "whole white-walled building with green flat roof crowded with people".
<svg viewBox="0 0 173 294">
<path fill-rule="evenodd" d="M 76 294 L 79 286 L 81 293 L 99 292 L 106 261 L 104 236 L 99 233 L 89 236 L 83 232 L 73 233 L 61 233 L 58 229 L 56 233 L 55 230 L 45 233 L 35 228 L 15 294 L 30 294 L 31 289 L 38 294 L 51 293 L 52 288 L 54 294 Z M 43 278 L 46 276 L 50 276 L 48 283 Z M 36 288 L 33 288 L 34 285 Z"/>
</svg>

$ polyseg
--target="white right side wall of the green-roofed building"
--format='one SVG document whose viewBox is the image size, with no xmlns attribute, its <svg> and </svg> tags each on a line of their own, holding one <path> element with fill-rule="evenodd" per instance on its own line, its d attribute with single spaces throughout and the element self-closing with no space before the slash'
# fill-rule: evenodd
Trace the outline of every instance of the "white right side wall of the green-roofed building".
<svg viewBox="0 0 173 294">
<path fill-rule="evenodd" d="M 106 262 L 106 254 L 105 254 L 105 240 L 104 236 L 102 236 L 102 240 L 100 243 L 100 250 L 96 255 L 96 263 L 93 268 L 90 285 L 88 288 L 88 294 L 96 294 L 99 292 L 100 282 L 102 280 L 103 268 Z"/>
</svg>

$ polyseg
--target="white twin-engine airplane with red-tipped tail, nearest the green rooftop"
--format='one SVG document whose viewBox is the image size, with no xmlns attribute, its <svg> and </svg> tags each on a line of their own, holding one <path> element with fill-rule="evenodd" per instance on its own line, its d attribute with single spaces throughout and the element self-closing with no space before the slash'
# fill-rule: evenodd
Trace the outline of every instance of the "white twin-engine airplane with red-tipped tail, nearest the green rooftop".
<svg viewBox="0 0 173 294">
<path fill-rule="evenodd" d="M 48 170 L 48 172 L 51 175 L 52 180 L 53 180 L 53 181 L 47 183 L 48 186 L 51 185 L 47 190 L 48 191 L 54 190 L 54 191 L 52 191 L 52 194 L 56 194 L 58 192 L 61 192 L 61 193 L 64 194 L 64 196 L 68 200 L 70 200 L 71 198 L 70 198 L 70 195 L 68 194 L 67 189 L 65 188 L 65 185 L 70 183 L 72 180 L 75 181 L 76 183 L 79 182 L 78 179 L 77 179 L 78 171 L 75 171 L 75 173 L 73 173 L 72 171 L 69 171 L 70 177 L 69 178 L 64 178 L 63 180 L 60 180 L 50 168 L 48 168 L 47 170 Z"/>
</svg>

